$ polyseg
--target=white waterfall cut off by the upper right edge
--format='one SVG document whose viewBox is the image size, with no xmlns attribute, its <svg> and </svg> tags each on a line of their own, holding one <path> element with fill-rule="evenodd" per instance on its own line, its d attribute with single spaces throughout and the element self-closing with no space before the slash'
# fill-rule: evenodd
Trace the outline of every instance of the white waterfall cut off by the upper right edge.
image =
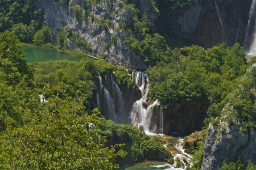
<svg viewBox="0 0 256 170">
<path fill-rule="evenodd" d="M 249 20 L 246 27 L 245 41 L 243 42 L 244 49 L 249 52 L 249 55 L 256 56 L 256 0 L 251 3 Z"/>
</svg>

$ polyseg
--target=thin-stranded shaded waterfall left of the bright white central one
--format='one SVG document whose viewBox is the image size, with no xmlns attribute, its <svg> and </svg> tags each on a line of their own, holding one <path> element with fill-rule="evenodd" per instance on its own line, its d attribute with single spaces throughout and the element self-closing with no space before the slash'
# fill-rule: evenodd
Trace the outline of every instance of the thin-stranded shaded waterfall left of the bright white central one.
<svg viewBox="0 0 256 170">
<path fill-rule="evenodd" d="M 113 120 L 116 124 L 125 124 L 126 118 L 124 113 L 123 99 L 120 88 L 113 80 L 111 75 L 110 82 L 108 75 L 105 75 L 105 81 L 102 82 L 100 74 L 98 74 L 100 80 L 100 94 L 97 94 L 97 104 L 100 107 L 100 111 L 104 114 L 106 119 Z M 109 92 L 107 90 L 111 92 Z M 110 94 L 111 93 L 111 94 Z"/>
</svg>

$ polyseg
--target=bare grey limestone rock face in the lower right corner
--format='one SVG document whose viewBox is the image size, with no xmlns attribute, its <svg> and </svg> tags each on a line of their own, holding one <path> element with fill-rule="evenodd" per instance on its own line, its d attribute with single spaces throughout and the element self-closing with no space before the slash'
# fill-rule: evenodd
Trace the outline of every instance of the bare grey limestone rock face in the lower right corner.
<svg viewBox="0 0 256 170">
<path fill-rule="evenodd" d="M 219 169 L 223 161 L 229 161 L 235 155 L 242 155 L 243 161 L 256 163 L 256 133 L 240 125 L 228 125 L 227 116 L 221 118 L 219 128 L 209 125 L 205 145 L 203 169 Z M 241 131 L 242 128 L 246 130 Z"/>
</svg>

